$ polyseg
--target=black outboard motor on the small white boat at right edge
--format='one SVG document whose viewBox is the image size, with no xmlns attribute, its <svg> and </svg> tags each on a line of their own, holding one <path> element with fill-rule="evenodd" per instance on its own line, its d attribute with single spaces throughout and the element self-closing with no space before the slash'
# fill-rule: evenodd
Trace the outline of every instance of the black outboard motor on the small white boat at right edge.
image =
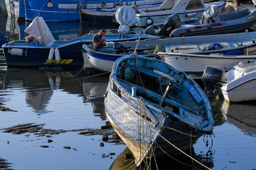
<svg viewBox="0 0 256 170">
<path fill-rule="evenodd" d="M 206 67 L 202 81 L 204 82 L 205 86 L 204 93 L 207 95 L 207 97 L 210 97 L 214 93 L 214 90 L 216 90 L 216 85 L 221 83 L 224 75 L 223 73 L 225 74 L 225 71 L 214 67 Z"/>
</svg>

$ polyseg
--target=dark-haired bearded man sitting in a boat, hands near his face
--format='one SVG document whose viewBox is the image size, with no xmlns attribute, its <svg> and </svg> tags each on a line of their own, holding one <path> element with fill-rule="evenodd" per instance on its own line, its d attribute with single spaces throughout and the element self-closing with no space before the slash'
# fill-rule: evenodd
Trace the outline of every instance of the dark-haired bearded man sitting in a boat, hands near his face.
<svg viewBox="0 0 256 170">
<path fill-rule="evenodd" d="M 94 46 L 94 50 L 101 52 L 101 53 L 108 53 L 108 54 L 116 54 L 113 48 L 105 48 L 106 41 L 105 41 L 105 34 L 106 31 L 104 29 L 100 30 L 100 32 L 92 37 L 92 43 Z"/>
</svg>

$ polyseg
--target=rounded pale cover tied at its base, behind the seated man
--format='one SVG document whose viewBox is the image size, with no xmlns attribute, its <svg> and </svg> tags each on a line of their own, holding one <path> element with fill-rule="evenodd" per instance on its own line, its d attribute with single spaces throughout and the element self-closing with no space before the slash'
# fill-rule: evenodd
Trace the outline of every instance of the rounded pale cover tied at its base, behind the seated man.
<svg viewBox="0 0 256 170">
<path fill-rule="evenodd" d="M 116 10 L 116 21 L 120 24 L 119 33 L 126 33 L 130 30 L 130 26 L 136 21 L 136 12 L 129 6 L 121 6 Z"/>
</svg>

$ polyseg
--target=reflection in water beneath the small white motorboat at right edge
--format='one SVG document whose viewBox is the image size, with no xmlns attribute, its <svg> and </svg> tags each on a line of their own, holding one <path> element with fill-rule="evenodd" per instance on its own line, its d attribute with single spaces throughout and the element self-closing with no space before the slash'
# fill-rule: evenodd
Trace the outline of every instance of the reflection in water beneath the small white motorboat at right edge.
<svg viewBox="0 0 256 170">
<path fill-rule="evenodd" d="M 243 133 L 256 137 L 256 105 L 253 102 L 246 104 L 229 104 L 225 100 L 221 106 L 221 112 L 227 122 L 235 125 Z"/>
</svg>

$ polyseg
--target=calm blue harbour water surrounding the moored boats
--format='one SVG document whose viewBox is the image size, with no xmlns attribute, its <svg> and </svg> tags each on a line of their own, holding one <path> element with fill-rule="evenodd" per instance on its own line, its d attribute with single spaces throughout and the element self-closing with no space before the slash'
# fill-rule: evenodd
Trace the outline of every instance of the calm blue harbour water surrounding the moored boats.
<svg viewBox="0 0 256 170">
<path fill-rule="evenodd" d="M 0 1 L 0 15 L 6 12 Z M 0 31 L 9 41 L 24 39 L 25 24 L 0 17 Z M 49 23 L 56 40 L 79 37 L 100 26 L 79 22 Z M 110 26 L 112 28 L 115 25 Z M 22 123 L 45 123 L 48 129 L 100 128 L 107 120 L 104 112 L 105 90 L 108 74 L 84 78 L 98 72 L 78 70 L 39 71 L 7 68 L 0 64 L 0 102 L 17 112 L 0 112 L 0 129 Z M 52 83 L 60 80 L 60 84 Z M 64 82 L 63 82 L 64 81 Z M 196 157 L 212 169 L 256 169 L 256 104 L 231 104 L 211 101 L 215 117 L 215 137 L 200 137 L 193 145 Z M 14 135 L 0 130 L 0 157 L 13 163 L 13 169 L 109 169 L 125 145 L 104 143 L 101 135 L 83 136 L 77 132 L 36 137 L 33 133 Z M 206 147 L 208 140 L 209 145 Z M 10 143 L 7 144 L 7 141 Z M 211 142 L 213 141 L 213 144 Z M 42 148 L 38 145 L 49 145 Z M 77 151 L 62 148 L 70 146 Z M 115 152 L 113 159 L 102 154 Z M 209 156 L 205 156 L 208 153 Z M 212 155 L 212 156 L 211 156 Z M 190 159 L 179 159 L 192 165 Z M 119 160 L 116 160 L 119 161 Z M 161 169 L 188 169 L 171 159 L 159 162 Z M 174 166 L 175 164 L 175 166 Z M 179 167 L 179 168 L 177 168 Z M 192 168 L 194 169 L 194 168 Z"/>
</svg>

